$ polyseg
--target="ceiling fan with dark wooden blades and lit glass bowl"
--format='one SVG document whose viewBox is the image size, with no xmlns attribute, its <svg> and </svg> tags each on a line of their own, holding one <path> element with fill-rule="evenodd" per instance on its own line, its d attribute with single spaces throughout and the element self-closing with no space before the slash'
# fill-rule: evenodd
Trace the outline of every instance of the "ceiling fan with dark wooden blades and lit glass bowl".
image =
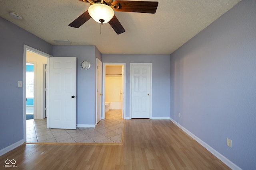
<svg viewBox="0 0 256 170">
<path fill-rule="evenodd" d="M 91 4 L 89 9 L 84 12 L 81 16 L 76 18 L 72 23 L 69 24 L 70 27 L 79 28 L 90 18 L 93 18 L 99 23 L 109 23 L 110 26 L 116 31 L 117 34 L 125 32 L 124 27 L 118 21 L 114 15 L 114 11 L 120 12 L 140 12 L 140 13 L 156 13 L 156 8 L 158 2 L 152 1 L 130 1 L 130 0 L 79 0 L 82 2 L 88 2 Z M 107 12 L 102 14 L 102 16 L 97 16 L 101 12 L 98 9 L 106 9 Z M 96 16 L 95 16 L 96 15 Z M 110 15 L 108 17 L 108 15 Z"/>
</svg>

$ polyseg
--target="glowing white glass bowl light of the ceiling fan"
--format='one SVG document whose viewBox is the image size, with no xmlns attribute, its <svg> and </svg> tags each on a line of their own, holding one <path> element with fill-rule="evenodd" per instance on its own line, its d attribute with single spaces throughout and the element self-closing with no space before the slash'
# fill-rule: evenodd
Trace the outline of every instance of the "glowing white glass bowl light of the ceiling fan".
<svg viewBox="0 0 256 170">
<path fill-rule="evenodd" d="M 93 4 L 89 7 L 88 12 L 98 23 L 107 23 L 114 16 L 114 10 L 105 4 Z"/>
</svg>

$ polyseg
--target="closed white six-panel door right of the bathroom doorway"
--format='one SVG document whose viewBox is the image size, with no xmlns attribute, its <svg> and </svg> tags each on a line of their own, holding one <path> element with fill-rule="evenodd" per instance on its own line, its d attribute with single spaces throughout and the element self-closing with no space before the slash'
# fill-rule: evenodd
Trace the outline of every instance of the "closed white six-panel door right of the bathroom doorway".
<svg viewBox="0 0 256 170">
<path fill-rule="evenodd" d="M 150 118 L 152 64 L 131 63 L 131 118 Z"/>
</svg>

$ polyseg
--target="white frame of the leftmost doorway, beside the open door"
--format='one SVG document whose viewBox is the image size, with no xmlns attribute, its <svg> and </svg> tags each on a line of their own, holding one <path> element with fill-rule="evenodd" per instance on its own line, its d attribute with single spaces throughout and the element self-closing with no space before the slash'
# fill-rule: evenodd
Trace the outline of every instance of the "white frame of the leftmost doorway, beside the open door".
<svg viewBox="0 0 256 170">
<path fill-rule="evenodd" d="M 26 83 L 26 61 L 27 61 L 27 50 L 28 51 L 32 51 L 33 53 L 37 53 L 39 55 L 42 55 L 44 57 L 47 58 L 47 64 L 49 63 L 49 59 L 50 57 L 52 57 L 52 55 L 49 55 L 47 53 L 44 53 L 38 49 L 34 49 L 33 47 L 30 47 L 28 45 L 24 45 L 23 46 L 23 131 L 24 131 L 24 142 L 27 141 L 27 135 L 26 135 L 26 86 L 24 86 Z M 47 80 L 46 80 L 46 87 L 48 87 L 48 78 L 49 76 L 46 77 Z M 47 99 L 47 96 L 49 95 L 46 95 L 46 101 L 48 100 Z M 47 111 L 46 111 L 47 113 Z"/>
</svg>

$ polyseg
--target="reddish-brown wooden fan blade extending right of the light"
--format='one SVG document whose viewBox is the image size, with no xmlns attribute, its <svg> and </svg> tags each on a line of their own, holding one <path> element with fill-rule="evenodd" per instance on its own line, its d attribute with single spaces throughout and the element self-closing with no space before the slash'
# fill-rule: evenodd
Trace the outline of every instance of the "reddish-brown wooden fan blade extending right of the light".
<svg viewBox="0 0 256 170">
<path fill-rule="evenodd" d="M 158 2 L 152 1 L 130 1 L 130 0 L 116 0 L 112 6 L 119 4 L 119 9 L 113 8 L 115 11 L 122 12 L 141 12 L 141 13 L 156 13 Z"/>
</svg>

